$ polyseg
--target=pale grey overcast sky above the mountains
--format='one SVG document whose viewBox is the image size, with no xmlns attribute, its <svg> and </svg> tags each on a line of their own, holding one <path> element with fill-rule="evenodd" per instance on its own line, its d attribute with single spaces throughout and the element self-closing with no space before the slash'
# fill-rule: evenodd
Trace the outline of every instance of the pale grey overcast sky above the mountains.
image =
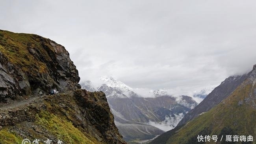
<svg viewBox="0 0 256 144">
<path fill-rule="evenodd" d="M 81 81 L 195 91 L 256 64 L 255 0 L 1 0 L 0 29 L 65 46 Z"/>
</svg>

